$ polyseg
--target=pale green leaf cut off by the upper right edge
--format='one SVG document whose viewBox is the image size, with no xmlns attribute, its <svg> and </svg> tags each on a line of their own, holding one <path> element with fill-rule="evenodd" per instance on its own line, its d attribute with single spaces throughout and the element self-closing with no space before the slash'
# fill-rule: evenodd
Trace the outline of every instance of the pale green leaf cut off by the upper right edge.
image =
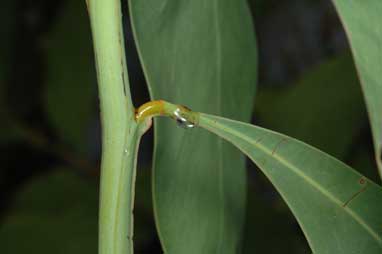
<svg viewBox="0 0 382 254">
<path fill-rule="evenodd" d="M 382 177 L 382 1 L 334 0 L 358 68 Z"/>
</svg>

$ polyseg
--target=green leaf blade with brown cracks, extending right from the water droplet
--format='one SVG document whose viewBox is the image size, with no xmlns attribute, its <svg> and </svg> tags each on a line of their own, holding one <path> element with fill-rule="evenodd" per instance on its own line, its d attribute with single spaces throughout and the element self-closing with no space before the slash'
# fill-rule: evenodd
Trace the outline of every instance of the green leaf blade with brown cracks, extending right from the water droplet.
<svg viewBox="0 0 382 254">
<path fill-rule="evenodd" d="M 199 125 L 256 163 L 291 208 L 313 253 L 381 253 L 380 186 L 285 135 L 206 114 Z"/>
</svg>

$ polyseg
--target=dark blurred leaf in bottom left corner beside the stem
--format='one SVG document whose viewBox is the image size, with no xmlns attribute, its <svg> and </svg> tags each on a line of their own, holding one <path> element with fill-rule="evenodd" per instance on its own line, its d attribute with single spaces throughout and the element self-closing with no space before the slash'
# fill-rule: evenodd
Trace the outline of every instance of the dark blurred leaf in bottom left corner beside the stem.
<svg viewBox="0 0 382 254">
<path fill-rule="evenodd" d="M 1 253 L 97 252 L 97 185 L 64 170 L 18 194 L 0 225 Z"/>
</svg>

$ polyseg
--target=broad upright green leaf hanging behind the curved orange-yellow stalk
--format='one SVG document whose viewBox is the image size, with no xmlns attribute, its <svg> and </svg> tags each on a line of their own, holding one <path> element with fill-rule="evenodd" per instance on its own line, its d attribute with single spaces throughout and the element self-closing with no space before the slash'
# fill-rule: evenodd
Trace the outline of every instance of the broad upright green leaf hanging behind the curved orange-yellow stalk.
<svg viewBox="0 0 382 254">
<path fill-rule="evenodd" d="M 245 1 L 130 1 L 130 11 L 153 99 L 250 119 L 257 55 Z M 155 124 L 154 208 L 165 252 L 236 253 L 244 158 L 209 133 Z"/>
</svg>

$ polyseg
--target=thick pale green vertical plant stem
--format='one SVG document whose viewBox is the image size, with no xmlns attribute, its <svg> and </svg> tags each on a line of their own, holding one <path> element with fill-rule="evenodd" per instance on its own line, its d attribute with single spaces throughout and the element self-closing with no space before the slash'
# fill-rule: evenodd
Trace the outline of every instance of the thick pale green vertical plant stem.
<svg viewBox="0 0 382 254">
<path fill-rule="evenodd" d="M 120 0 L 88 0 L 87 5 L 102 123 L 99 254 L 132 254 L 135 158 L 145 128 L 134 118 Z"/>
</svg>

